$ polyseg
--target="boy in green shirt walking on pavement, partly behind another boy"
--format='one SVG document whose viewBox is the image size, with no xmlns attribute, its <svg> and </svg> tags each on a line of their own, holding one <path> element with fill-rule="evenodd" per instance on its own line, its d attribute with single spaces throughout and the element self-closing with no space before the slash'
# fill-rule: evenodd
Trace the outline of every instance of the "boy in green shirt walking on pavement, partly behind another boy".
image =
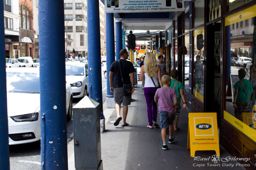
<svg viewBox="0 0 256 170">
<path fill-rule="evenodd" d="M 170 74 L 171 74 L 172 81 L 171 81 L 171 85 L 169 87 L 174 88 L 177 93 L 177 96 L 178 96 L 178 98 L 177 98 L 178 103 L 175 106 L 175 118 L 174 118 L 174 130 L 177 131 L 177 130 L 180 130 L 180 128 L 177 127 L 178 119 L 180 116 L 180 97 L 182 98 L 182 101 L 183 101 L 183 109 L 186 108 L 186 99 L 185 99 L 185 95 L 183 93 L 184 85 L 177 80 L 178 71 L 176 69 L 172 69 Z"/>
</svg>

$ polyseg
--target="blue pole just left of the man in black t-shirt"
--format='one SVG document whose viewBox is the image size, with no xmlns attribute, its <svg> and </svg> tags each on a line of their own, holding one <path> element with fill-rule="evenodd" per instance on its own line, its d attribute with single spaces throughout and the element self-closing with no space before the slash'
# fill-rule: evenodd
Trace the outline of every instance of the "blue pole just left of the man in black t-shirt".
<svg viewBox="0 0 256 170">
<path fill-rule="evenodd" d="M 107 97 L 113 97 L 109 84 L 109 68 L 115 60 L 115 40 L 114 40 L 114 14 L 106 13 L 106 48 L 107 48 Z M 118 53 L 119 54 L 119 53 Z"/>
</svg>

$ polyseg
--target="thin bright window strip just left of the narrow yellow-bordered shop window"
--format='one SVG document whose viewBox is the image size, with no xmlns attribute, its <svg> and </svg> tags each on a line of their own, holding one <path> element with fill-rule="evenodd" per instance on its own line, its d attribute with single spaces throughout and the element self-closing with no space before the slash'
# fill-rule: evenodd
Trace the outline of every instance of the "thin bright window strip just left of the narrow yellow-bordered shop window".
<svg viewBox="0 0 256 170">
<path fill-rule="evenodd" d="M 184 58 L 184 61 L 185 61 L 185 69 L 184 69 L 184 74 L 185 74 L 185 83 L 184 83 L 184 86 L 185 86 L 185 90 L 186 91 L 189 91 L 189 34 L 186 34 L 185 35 L 185 41 L 184 41 L 184 45 L 188 51 L 187 54 L 185 54 L 185 58 Z"/>
</svg>

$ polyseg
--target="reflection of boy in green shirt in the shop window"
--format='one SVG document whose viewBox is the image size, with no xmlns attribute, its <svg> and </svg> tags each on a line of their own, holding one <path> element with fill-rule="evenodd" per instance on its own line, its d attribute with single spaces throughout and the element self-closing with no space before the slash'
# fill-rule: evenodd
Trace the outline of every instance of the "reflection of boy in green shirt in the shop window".
<svg viewBox="0 0 256 170">
<path fill-rule="evenodd" d="M 238 77 L 240 81 L 236 82 L 234 85 L 235 93 L 233 105 L 235 108 L 235 116 L 239 120 L 241 120 L 242 112 L 249 112 L 250 96 L 253 93 L 252 83 L 250 80 L 244 79 L 245 75 L 246 71 L 244 69 L 239 69 Z M 244 91 L 244 88 L 246 92 Z"/>
</svg>

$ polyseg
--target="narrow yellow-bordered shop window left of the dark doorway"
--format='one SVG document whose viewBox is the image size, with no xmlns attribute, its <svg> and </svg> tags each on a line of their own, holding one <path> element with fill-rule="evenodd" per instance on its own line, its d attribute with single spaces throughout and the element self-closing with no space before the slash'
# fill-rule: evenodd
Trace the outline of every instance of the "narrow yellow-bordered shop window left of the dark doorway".
<svg viewBox="0 0 256 170">
<path fill-rule="evenodd" d="M 193 92 L 201 102 L 204 102 L 204 27 L 194 31 L 194 58 L 193 75 L 194 85 Z"/>
</svg>

